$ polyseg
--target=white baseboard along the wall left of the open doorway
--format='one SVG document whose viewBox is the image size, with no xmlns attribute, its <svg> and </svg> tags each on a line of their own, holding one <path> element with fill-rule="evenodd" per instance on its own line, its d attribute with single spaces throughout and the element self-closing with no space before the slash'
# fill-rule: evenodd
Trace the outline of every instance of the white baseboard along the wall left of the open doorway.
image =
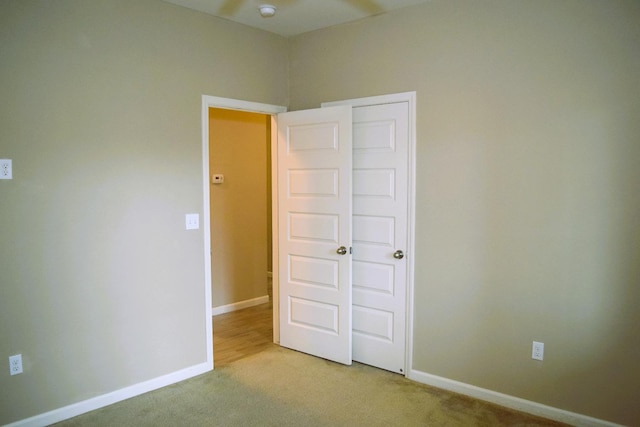
<svg viewBox="0 0 640 427">
<path fill-rule="evenodd" d="M 134 384 L 129 387 L 125 387 L 120 390 L 116 390 L 111 393 L 103 394 L 82 402 L 74 403 L 73 405 L 65 406 L 62 408 L 54 409 L 44 414 L 36 415 L 31 418 L 16 421 L 11 424 L 7 424 L 5 427 L 42 427 L 48 426 L 60 421 L 68 420 L 69 418 L 77 417 L 84 413 L 94 411 L 96 409 L 103 408 L 105 406 L 112 405 L 123 400 L 139 396 L 144 393 L 148 393 L 153 390 L 157 390 L 162 387 L 166 387 L 171 384 L 175 384 L 180 381 L 195 377 L 213 369 L 209 363 L 205 362 L 199 365 L 195 365 L 186 369 L 182 369 L 171 374 L 167 374 L 158 378 L 154 378 L 149 381 L 145 381 L 139 384 Z"/>
</svg>

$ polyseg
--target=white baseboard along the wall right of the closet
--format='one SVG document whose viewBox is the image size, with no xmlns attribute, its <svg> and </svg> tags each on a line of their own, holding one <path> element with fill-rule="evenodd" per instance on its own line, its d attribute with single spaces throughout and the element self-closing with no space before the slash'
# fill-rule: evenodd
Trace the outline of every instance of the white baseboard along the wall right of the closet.
<svg viewBox="0 0 640 427">
<path fill-rule="evenodd" d="M 575 412 L 565 411 L 563 409 L 554 408 L 552 406 L 542 405 L 530 400 L 509 396 L 507 394 L 502 394 L 470 384 L 450 380 L 448 378 L 439 377 L 437 375 L 427 374 L 425 372 L 417 371 L 414 369 L 409 371 L 408 378 L 419 383 L 452 391 L 454 393 L 464 394 L 475 399 L 495 403 L 500 406 L 515 409 L 521 412 L 526 412 L 531 415 L 537 415 L 550 420 L 560 421 L 566 424 L 581 427 L 623 427 L 620 424 L 615 424 L 610 421 L 604 421 L 597 418 L 589 417 L 587 415 L 577 414 Z"/>
</svg>

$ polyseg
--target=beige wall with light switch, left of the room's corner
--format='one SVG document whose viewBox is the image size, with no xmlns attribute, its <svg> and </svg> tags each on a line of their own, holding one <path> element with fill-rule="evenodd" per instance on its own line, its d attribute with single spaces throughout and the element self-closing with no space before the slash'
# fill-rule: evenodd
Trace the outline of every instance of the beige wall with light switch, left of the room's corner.
<svg viewBox="0 0 640 427">
<path fill-rule="evenodd" d="M 3 0 L 0 29 L 5 424 L 206 361 L 201 96 L 286 104 L 287 41 L 157 0 Z"/>
</svg>

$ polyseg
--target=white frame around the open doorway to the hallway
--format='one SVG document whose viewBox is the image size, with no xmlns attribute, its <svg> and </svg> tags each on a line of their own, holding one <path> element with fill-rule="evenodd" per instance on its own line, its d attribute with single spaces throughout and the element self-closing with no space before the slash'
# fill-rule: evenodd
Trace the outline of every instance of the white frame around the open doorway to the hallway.
<svg viewBox="0 0 640 427">
<path fill-rule="evenodd" d="M 207 340 L 207 365 L 209 369 L 214 369 L 213 360 L 213 300 L 211 295 L 211 209 L 210 209 L 210 183 L 209 183 L 209 108 L 222 108 L 226 110 L 239 110 L 250 113 L 261 113 L 271 116 L 271 140 L 277 141 L 278 129 L 277 119 L 278 113 L 284 113 L 287 111 L 287 107 L 281 105 L 261 104 L 258 102 L 242 101 L 231 98 L 220 98 L 211 95 L 202 95 L 202 224 L 204 233 L 204 295 L 205 295 L 205 325 L 206 325 L 206 340 Z M 277 169 L 273 169 L 276 165 L 273 162 L 274 146 L 277 144 L 271 144 L 272 154 L 272 179 L 275 175 L 277 178 Z M 277 147 L 276 147 L 277 148 Z M 277 151 L 276 151 L 277 153 Z M 277 165 L 276 165 L 277 166 Z M 272 181 L 272 187 L 277 188 L 277 180 Z M 274 195 L 277 200 L 277 194 Z M 277 204 L 274 204 L 274 211 L 277 209 Z M 277 236 L 277 216 L 273 217 L 273 234 Z M 274 248 L 277 248 L 277 243 L 274 241 Z M 274 253 L 274 267 L 273 267 L 273 281 L 277 280 L 277 252 Z M 265 272 L 266 274 L 266 272 Z M 275 286 L 274 286 L 275 288 Z M 273 290 L 273 297 L 276 298 L 276 290 Z M 277 304 L 274 304 L 274 318 L 277 313 Z M 275 331 L 274 331 L 275 334 Z M 275 338 L 275 335 L 274 335 Z"/>
</svg>

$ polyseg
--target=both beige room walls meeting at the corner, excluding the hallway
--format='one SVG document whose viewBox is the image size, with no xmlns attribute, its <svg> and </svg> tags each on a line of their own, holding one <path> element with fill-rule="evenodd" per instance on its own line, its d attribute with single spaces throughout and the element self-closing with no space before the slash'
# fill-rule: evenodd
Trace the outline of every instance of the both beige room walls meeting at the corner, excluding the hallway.
<svg viewBox="0 0 640 427">
<path fill-rule="evenodd" d="M 418 93 L 414 369 L 639 424 L 639 7 L 433 0 L 287 42 L 3 0 L 0 424 L 204 361 L 200 96 L 287 105 L 287 73 L 292 110 Z"/>
</svg>

